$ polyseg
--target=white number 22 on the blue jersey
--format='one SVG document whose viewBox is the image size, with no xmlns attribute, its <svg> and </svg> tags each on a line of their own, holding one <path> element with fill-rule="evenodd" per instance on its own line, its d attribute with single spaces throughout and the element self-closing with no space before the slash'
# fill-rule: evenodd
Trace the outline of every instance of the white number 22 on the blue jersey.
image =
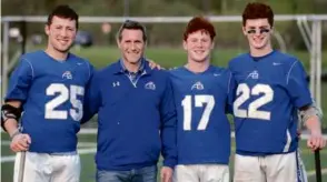
<svg viewBox="0 0 327 182">
<path fill-rule="evenodd" d="M 239 109 L 251 95 L 262 97 L 249 103 L 248 110 Z M 238 118 L 252 118 L 260 120 L 270 120 L 270 112 L 259 111 L 258 108 L 269 103 L 274 99 L 274 90 L 268 84 L 256 84 L 251 90 L 246 83 L 237 87 L 236 94 L 239 95 L 234 102 L 234 114 Z"/>
</svg>

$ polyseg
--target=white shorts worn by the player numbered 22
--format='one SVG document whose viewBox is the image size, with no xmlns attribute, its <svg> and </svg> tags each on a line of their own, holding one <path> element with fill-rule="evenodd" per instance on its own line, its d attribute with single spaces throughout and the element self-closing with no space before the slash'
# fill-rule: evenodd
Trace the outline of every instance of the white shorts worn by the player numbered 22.
<svg viewBox="0 0 327 182">
<path fill-rule="evenodd" d="M 267 156 L 235 155 L 234 182 L 307 182 L 298 152 Z"/>
</svg>

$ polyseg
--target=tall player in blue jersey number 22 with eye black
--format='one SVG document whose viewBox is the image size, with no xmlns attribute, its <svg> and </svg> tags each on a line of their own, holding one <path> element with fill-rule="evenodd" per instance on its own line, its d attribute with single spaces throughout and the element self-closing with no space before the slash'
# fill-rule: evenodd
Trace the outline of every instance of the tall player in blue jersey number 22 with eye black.
<svg viewBox="0 0 327 182">
<path fill-rule="evenodd" d="M 229 62 L 237 84 L 235 182 L 307 181 L 297 151 L 298 110 L 310 132 L 308 148 L 326 145 L 305 69 L 297 58 L 272 49 L 272 27 L 270 7 L 249 3 L 242 13 L 249 53 Z"/>
</svg>

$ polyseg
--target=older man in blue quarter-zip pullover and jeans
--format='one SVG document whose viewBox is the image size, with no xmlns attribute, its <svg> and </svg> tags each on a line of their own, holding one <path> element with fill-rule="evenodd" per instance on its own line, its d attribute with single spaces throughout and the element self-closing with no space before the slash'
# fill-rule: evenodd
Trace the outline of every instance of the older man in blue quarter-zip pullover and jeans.
<svg viewBox="0 0 327 182">
<path fill-rule="evenodd" d="M 146 29 L 126 21 L 117 37 L 121 58 L 95 73 L 83 121 L 98 113 L 98 182 L 169 182 L 176 164 L 176 108 L 169 73 L 145 59 Z"/>
</svg>

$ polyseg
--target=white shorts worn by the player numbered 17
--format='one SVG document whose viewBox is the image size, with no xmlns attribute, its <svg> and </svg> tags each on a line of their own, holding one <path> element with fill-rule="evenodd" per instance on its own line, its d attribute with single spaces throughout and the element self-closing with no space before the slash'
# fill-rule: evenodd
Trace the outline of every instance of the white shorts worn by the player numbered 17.
<svg viewBox="0 0 327 182">
<path fill-rule="evenodd" d="M 229 182 L 229 166 L 220 164 L 176 165 L 174 182 Z"/>
</svg>

